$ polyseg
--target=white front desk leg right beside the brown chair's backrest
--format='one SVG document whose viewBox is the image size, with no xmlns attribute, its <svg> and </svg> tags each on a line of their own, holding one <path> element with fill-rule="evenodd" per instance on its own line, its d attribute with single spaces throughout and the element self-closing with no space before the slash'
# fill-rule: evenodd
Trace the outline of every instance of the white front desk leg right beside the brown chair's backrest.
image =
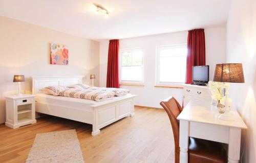
<svg viewBox="0 0 256 163">
<path fill-rule="evenodd" d="M 180 163 L 188 162 L 188 130 L 189 122 L 180 120 Z"/>
</svg>

